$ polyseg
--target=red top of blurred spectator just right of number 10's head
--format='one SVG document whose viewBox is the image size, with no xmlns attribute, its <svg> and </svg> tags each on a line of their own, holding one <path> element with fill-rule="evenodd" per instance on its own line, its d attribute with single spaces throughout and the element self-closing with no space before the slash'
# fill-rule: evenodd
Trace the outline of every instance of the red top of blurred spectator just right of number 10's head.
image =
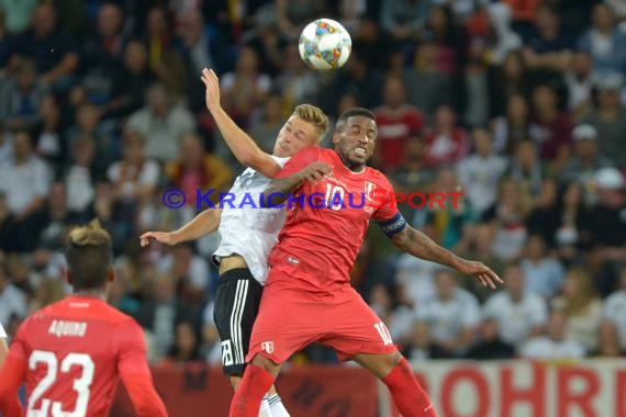
<svg viewBox="0 0 626 417">
<path fill-rule="evenodd" d="M 387 106 L 376 109 L 378 126 L 377 153 L 382 169 L 396 168 L 404 160 L 406 138 L 412 132 L 424 127 L 424 116 L 412 105 L 390 110 Z"/>
</svg>

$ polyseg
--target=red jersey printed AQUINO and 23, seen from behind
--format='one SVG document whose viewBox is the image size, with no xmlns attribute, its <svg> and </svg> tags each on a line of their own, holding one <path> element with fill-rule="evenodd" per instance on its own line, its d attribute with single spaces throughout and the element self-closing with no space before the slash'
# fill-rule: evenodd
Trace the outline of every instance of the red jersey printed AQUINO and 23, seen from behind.
<svg viewBox="0 0 626 417">
<path fill-rule="evenodd" d="M 68 296 L 26 318 L 7 364 L 0 374 L 0 394 L 24 381 L 29 416 L 108 416 L 120 376 L 135 408 L 128 382 L 143 385 L 142 390 L 149 382 L 152 387 L 142 328 L 94 297 Z M 167 415 L 154 388 L 141 395 L 142 403 L 156 403 L 142 404 L 145 408 L 138 414 Z"/>
</svg>

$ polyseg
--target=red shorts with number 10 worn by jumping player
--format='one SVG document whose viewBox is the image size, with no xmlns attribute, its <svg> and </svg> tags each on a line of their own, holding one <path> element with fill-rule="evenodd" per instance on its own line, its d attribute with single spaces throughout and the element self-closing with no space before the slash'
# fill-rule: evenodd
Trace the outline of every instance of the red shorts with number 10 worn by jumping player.
<svg viewBox="0 0 626 417">
<path fill-rule="evenodd" d="M 326 295 L 266 286 L 246 361 L 260 352 L 282 363 L 313 342 L 335 349 L 343 361 L 396 350 L 382 320 L 349 285 Z"/>
</svg>

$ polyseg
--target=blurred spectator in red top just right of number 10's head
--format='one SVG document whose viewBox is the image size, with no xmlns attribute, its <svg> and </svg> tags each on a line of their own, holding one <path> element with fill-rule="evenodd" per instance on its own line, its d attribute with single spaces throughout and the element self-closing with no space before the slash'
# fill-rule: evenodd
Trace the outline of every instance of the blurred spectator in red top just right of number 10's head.
<svg viewBox="0 0 626 417">
<path fill-rule="evenodd" d="M 378 140 L 373 162 L 382 170 L 398 168 L 409 134 L 424 128 L 424 116 L 406 102 L 404 83 L 399 77 L 384 80 L 382 105 L 373 110 L 378 124 Z"/>
</svg>

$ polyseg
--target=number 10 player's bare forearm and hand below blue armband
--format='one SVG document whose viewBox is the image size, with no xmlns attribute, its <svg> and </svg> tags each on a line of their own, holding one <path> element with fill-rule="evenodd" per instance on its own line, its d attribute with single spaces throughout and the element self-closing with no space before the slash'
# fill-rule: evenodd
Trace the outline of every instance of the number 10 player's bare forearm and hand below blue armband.
<svg viewBox="0 0 626 417">
<path fill-rule="evenodd" d="M 504 282 L 484 263 L 457 257 L 411 226 L 406 226 L 402 232 L 393 235 L 391 240 L 400 249 L 414 257 L 451 267 L 467 275 L 473 275 L 484 286 L 495 289 L 498 283 Z"/>
</svg>

